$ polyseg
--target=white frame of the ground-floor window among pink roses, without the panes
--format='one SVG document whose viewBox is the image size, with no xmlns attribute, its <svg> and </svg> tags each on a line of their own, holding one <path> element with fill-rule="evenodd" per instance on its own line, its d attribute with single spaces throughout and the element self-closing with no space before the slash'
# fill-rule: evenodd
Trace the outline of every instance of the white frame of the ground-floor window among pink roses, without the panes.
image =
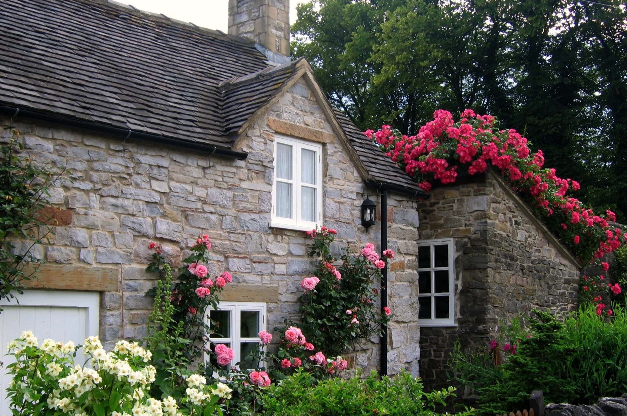
<svg viewBox="0 0 627 416">
<path fill-rule="evenodd" d="M 214 310 L 211 306 L 207 308 L 205 313 L 205 323 L 207 325 L 211 325 L 211 311 Z M 266 311 L 267 305 L 265 302 L 228 302 L 228 301 L 220 301 L 218 304 L 219 311 L 230 311 L 230 333 L 229 338 L 216 338 L 213 336 L 208 337 L 207 348 L 209 348 L 210 343 L 214 344 L 230 344 L 233 349 L 233 360 L 229 364 L 229 368 L 236 365 L 241 361 L 241 344 L 246 342 L 258 342 L 261 346 L 261 338 L 259 336 L 256 337 L 242 337 L 240 336 L 241 331 L 241 311 L 258 311 L 259 312 L 259 331 L 266 330 Z M 265 347 L 264 347 L 265 348 Z M 209 354 L 204 353 L 204 362 L 209 361 Z M 236 366 L 239 368 L 239 365 Z"/>
</svg>

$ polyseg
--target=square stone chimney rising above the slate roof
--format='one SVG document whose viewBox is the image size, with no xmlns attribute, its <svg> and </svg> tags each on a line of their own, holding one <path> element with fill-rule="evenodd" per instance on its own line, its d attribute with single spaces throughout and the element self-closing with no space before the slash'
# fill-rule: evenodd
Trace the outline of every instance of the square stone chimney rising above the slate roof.
<svg viewBox="0 0 627 416">
<path fill-rule="evenodd" d="M 229 34 L 263 46 L 271 61 L 286 61 L 290 56 L 290 0 L 229 0 Z M 273 60 L 275 54 L 282 56 Z"/>
</svg>

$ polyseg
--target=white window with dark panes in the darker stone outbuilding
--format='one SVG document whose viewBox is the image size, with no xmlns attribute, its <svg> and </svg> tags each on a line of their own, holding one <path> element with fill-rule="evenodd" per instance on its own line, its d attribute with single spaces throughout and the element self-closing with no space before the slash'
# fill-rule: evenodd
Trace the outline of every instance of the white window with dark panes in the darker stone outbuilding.
<svg viewBox="0 0 627 416">
<path fill-rule="evenodd" d="M 455 325 L 453 239 L 418 241 L 418 323 Z"/>
</svg>

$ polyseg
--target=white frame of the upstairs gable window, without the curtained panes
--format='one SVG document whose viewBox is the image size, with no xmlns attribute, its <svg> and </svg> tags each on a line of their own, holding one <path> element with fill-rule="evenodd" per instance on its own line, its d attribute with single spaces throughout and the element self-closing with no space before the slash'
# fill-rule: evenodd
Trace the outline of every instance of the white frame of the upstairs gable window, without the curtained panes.
<svg viewBox="0 0 627 416">
<path fill-rule="evenodd" d="M 277 144 L 292 146 L 292 180 L 277 178 Z M 302 182 L 302 149 L 315 152 L 317 160 L 315 163 L 316 184 Z M 275 135 L 273 150 L 274 173 L 272 178 L 272 213 L 271 227 L 286 228 L 298 231 L 309 231 L 322 225 L 322 144 L 308 142 L 294 137 Z M 277 216 L 277 180 L 292 184 L 292 218 Z M 315 219 L 316 221 L 304 221 L 302 219 L 302 186 L 314 188 L 316 190 Z"/>
</svg>

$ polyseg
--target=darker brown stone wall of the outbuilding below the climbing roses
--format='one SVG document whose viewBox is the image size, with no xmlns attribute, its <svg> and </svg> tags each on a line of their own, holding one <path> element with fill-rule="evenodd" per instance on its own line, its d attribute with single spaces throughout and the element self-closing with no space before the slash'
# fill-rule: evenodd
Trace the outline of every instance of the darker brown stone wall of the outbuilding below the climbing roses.
<svg viewBox="0 0 627 416">
<path fill-rule="evenodd" d="M 455 241 L 457 326 L 421 328 L 426 387 L 446 385 L 446 361 L 456 340 L 473 350 L 519 313 L 576 308 L 576 261 L 494 174 L 433 189 L 418 212 L 420 239 Z"/>
</svg>

